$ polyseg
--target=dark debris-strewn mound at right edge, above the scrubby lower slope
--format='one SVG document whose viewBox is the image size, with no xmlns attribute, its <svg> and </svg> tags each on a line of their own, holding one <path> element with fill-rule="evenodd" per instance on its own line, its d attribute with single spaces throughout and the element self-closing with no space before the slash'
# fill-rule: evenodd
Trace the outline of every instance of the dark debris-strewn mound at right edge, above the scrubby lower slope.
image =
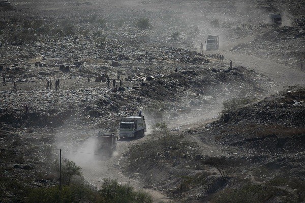
<svg viewBox="0 0 305 203">
<path fill-rule="evenodd" d="M 225 145 L 264 153 L 296 153 L 304 148 L 305 91 L 289 90 L 266 97 L 210 126 L 220 133 L 215 140 Z"/>
</svg>

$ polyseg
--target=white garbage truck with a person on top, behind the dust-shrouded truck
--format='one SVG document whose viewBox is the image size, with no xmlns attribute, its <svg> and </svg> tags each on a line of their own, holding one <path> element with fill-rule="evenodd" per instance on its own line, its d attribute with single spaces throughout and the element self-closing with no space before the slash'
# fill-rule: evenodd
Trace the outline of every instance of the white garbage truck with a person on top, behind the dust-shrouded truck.
<svg viewBox="0 0 305 203">
<path fill-rule="evenodd" d="M 121 119 L 119 124 L 119 138 L 143 137 L 146 132 L 144 116 L 128 116 Z"/>
</svg>

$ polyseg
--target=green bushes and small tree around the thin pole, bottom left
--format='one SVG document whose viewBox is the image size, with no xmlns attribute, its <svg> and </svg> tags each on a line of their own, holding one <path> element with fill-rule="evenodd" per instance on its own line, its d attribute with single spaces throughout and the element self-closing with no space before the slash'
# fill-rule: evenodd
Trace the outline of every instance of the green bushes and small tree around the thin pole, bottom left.
<svg viewBox="0 0 305 203">
<path fill-rule="evenodd" d="M 130 185 L 119 184 L 116 180 L 104 179 L 103 185 L 97 189 L 87 183 L 82 177 L 81 168 L 72 160 L 64 160 L 62 164 L 62 188 L 59 185 L 59 162 L 53 163 L 52 176 L 42 179 L 53 186 L 25 188 L 26 201 L 29 203 L 150 203 L 150 195 L 144 191 L 135 191 Z"/>
</svg>

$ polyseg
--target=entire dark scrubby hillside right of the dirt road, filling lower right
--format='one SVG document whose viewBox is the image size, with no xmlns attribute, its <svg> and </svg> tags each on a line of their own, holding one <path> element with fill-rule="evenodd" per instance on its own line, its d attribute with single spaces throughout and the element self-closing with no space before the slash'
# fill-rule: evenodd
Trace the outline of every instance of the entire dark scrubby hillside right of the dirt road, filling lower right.
<svg viewBox="0 0 305 203">
<path fill-rule="evenodd" d="M 210 124 L 146 139 L 124 168 L 177 202 L 303 200 L 304 104 L 304 88 L 289 87 Z"/>
</svg>

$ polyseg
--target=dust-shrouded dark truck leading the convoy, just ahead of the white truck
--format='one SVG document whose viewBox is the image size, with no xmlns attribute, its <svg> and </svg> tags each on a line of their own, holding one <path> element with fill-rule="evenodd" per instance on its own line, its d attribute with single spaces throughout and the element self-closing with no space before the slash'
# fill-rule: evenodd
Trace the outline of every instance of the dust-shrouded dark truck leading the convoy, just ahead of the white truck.
<svg viewBox="0 0 305 203">
<path fill-rule="evenodd" d="M 116 151 L 115 133 L 101 133 L 96 136 L 97 153 L 109 155 Z"/>
</svg>

